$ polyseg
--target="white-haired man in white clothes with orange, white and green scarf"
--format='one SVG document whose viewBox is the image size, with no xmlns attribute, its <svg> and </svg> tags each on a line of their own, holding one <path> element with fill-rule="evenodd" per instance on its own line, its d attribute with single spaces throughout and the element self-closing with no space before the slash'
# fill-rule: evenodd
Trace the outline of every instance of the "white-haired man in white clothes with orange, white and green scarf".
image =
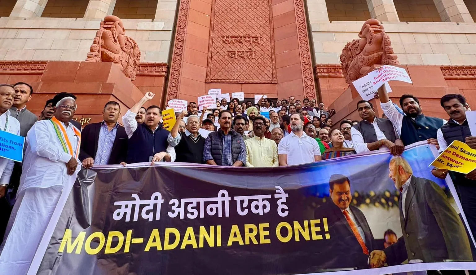
<svg viewBox="0 0 476 275">
<path fill-rule="evenodd" d="M 79 172 L 81 133 L 69 123 L 75 110 L 75 101 L 64 98 L 51 120 L 36 122 L 27 134 L 18 201 L 0 254 L 0 274 L 27 274 L 64 185 Z"/>
</svg>

